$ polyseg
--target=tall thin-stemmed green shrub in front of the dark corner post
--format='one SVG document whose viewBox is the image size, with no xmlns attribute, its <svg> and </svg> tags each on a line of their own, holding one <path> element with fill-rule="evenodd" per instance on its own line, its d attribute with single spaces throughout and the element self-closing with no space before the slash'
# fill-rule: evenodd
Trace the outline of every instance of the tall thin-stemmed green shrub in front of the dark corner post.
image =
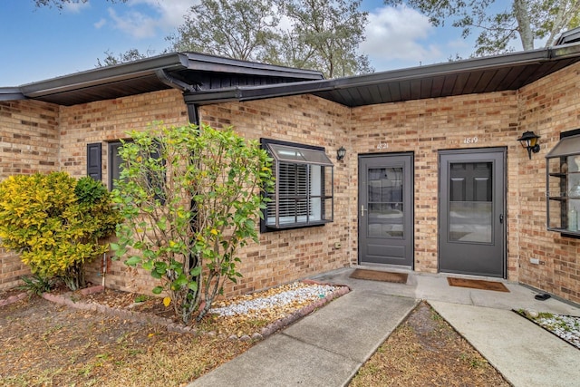
<svg viewBox="0 0 580 387">
<path fill-rule="evenodd" d="M 111 249 L 160 281 L 152 292 L 168 295 L 165 305 L 185 324 L 196 312 L 200 321 L 225 282 L 241 276 L 237 249 L 257 242 L 271 160 L 232 128 L 153 126 L 129 134 L 113 190 L 125 221 Z"/>
</svg>

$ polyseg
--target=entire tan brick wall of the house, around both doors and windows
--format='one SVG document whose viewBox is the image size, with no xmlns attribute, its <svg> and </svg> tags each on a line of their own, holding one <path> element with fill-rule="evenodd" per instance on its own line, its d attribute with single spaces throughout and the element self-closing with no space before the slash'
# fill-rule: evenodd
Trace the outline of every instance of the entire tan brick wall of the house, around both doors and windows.
<svg viewBox="0 0 580 387">
<path fill-rule="evenodd" d="M 241 294 L 357 262 L 357 156 L 381 152 L 414 153 L 414 266 L 434 273 L 438 267 L 438 151 L 501 147 L 507 149 L 507 276 L 580 301 L 578 239 L 546 231 L 547 151 L 559 133 L 580 127 L 578 72 L 575 65 L 517 92 L 494 92 L 348 109 L 312 95 L 257 102 L 202 106 L 202 121 L 232 124 L 250 139 L 260 137 L 324 146 L 334 162 L 334 222 L 324 227 L 262 234 L 259 244 L 240 252 L 244 277 L 228 285 Z M 165 91 L 72 107 L 41 102 L 0 102 L 0 179 L 13 173 L 67 170 L 86 174 L 86 144 L 102 142 L 102 177 L 107 181 L 107 142 L 125 138 L 150 121 L 185 124 L 180 92 Z M 541 151 L 528 160 L 517 143 L 524 131 L 542 136 Z M 465 140 L 477 142 L 467 143 Z M 336 161 L 336 150 L 347 150 Z M 60 148 L 59 148 L 60 147 Z M 385 148 L 386 147 L 386 148 Z M 379 149 L 381 148 L 381 149 Z M 335 248 L 335 243 L 341 248 Z M 22 273 L 14 256 L 0 252 L 0 286 Z M 529 258 L 539 258 L 532 265 Z M 100 260 L 88 266 L 101 282 Z M 146 293 L 150 276 L 112 262 L 107 285 Z"/>
</svg>

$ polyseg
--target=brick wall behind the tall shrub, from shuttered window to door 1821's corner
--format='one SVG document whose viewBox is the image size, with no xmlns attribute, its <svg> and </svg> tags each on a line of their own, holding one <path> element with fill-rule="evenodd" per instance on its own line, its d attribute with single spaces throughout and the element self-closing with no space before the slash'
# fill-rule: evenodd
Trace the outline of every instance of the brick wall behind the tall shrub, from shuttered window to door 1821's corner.
<svg viewBox="0 0 580 387">
<path fill-rule="evenodd" d="M 356 228 L 348 221 L 352 218 L 350 198 L 356 191 L 352 190 L 352 174 L 347 173 L 346 164 L 335 162 L 336 150 L 341 145 L 347 146 L 348 142 L 349 111 L 346 108 L 317 97 L 301 96 L 204 106 L 199 109 L 199 115 L 202 121 L 216 128 L 233 124 L 236 131 L 248 139 L 264 137 L 324 146 L 335 163 L 335 221 L 324 227 L 262 234 L 259 244 L 251 243 L 240 251 L 239 271 L 243 277 L 237 285 L 227 285 L 228 295 L 291 282 L 356 261 L 351 254 Z M 162 117 L 168 124 L 187 122 L 186 106 L 179 92 L 157 92 L 63 108 L 63 169 L 73 176 L 86 174 L 86 144 L 102 141 L 102 179 L 106 180 L 106 141 L 124 138 L 124 131 L 144 128 L 148 122 Z M 346 193 L 349 190 L 350 193 Z M 335 248 L 335 243 L 340 243 L 341 248 Z M 149 273 L 130 269 L 120 261 L 107 260 L 106 285 L 139 293 L 149 293 L 155 285 Z M 87 266 L 88 279 L 100 284 L 101 270 L 102 259 L 97 259 Z"/>
</svg>

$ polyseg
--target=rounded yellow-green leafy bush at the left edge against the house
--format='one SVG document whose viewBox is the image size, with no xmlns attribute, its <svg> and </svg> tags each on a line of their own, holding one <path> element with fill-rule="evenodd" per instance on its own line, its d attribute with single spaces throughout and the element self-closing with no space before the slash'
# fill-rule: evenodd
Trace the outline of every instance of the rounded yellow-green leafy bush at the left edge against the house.
<svg viewBox="0 0 580 387">
<path fill-rule="evenodd" d="M 82 264 L 107 251 L 99 238 L 120 220 L 101 182 L 65 172 L 11 176 L 0 183 L 0 244 L 42 278 L 84 286 Z"/>
</svg>

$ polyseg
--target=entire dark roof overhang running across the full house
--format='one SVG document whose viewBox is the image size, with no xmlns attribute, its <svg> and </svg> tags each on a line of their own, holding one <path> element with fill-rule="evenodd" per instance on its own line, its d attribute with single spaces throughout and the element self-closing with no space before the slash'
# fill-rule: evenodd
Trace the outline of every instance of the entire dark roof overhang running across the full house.
<svg viewBox="0 0 580 387">
<path fill-rule="evenodd" d="M 324 80 L 322 73 L 222 58 L 168 53 L 101 67 L 17 88 L 0 88 L 0 101 L 34 99 L 60 105 L 110 100 L 177 88 L 195 104 L 244 102 L 314 94 L 348 107 L 482 92 L 515 91 L 580 62 L 572 32 L 565 44 L 431 64 L 382 73 Z M 566 40 L 567 39 L 567 40 Z"/>
</svg>

